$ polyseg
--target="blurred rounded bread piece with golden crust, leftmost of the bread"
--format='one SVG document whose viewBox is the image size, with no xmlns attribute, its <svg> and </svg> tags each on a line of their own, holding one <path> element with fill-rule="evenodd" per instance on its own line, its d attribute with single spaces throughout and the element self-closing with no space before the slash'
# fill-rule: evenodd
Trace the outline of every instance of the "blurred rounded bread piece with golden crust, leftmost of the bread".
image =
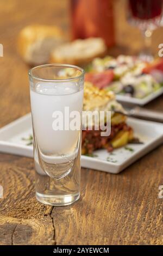
<svg viewBox="0 0 163 256">
<path fill-rule="evenodd" d="M 64 34 L 57 26 L 31 25 L 18 35 L 18 52 L 29 64 L 44 64 L 52 49 L 64 41 Z"/>
</svg>

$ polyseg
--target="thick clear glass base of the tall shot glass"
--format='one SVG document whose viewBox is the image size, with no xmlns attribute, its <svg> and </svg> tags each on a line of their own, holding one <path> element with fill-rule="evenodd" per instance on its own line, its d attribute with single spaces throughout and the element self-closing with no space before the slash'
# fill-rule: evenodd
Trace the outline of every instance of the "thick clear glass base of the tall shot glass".
<svg viewBox="0 0 163 256">
<path fill-rule="evenodd" d="M 64 195 L 47 195 L 36 192 L 36 199 L 42 204 L 65 206 L 76 202 L 80 198 L 80 193 Z"/>
</svg>

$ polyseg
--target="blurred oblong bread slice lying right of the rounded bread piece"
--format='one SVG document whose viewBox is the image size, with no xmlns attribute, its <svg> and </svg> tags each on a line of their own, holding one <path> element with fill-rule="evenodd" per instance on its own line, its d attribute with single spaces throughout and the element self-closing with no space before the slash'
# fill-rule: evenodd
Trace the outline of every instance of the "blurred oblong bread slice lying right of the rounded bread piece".
<svg viewBox="0 0 163 256">
<path fill-rule="evenodd" d="M 78 39 L 58 46 L 52 51 L 52 63 L 81 65 L 104 56 L 106 45 L 102 38 Z"/>
</svg>

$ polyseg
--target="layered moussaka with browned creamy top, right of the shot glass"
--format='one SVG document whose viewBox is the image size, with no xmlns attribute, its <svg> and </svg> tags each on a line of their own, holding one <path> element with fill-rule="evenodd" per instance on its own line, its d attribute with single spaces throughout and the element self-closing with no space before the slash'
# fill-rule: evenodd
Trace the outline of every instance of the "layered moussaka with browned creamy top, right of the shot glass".
<svg viewBox="0 0 163 256">
<path fill-rule="evenodd" d="M 97 149 L 105 148 L 109 152 L 123 147 L 133 140 L 133 129 L 126 123 L 125 115 L 115 113 L 123 112 L 120 103 L 115 100 L 115 94 L 98 89 L 91 82 L 85 82 L 84 86 L 84 111 L 111 111 L 111 133 L 109 136 L 101 136 L 101 130 L 89 130 L 89 124 L 82 131 L 82 154 L 92 154 Z M 103 120 L 105 123 L 105 120 Z"/>
</svg>

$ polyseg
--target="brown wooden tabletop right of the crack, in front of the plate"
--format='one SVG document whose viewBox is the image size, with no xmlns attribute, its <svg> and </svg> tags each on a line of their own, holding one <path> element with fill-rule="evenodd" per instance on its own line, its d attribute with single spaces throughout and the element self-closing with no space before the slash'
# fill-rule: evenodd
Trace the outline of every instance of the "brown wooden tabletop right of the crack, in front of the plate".
<svg viewBox="0 0 163 256">
<path fill-rule="evenodd" d="M 83 169 L 82 199 L 53 209 L 57 244 L 161 244 L 163 168 L 154 156 L 162 153 L 158 148 L 118 175 Z"/>
</svg>

